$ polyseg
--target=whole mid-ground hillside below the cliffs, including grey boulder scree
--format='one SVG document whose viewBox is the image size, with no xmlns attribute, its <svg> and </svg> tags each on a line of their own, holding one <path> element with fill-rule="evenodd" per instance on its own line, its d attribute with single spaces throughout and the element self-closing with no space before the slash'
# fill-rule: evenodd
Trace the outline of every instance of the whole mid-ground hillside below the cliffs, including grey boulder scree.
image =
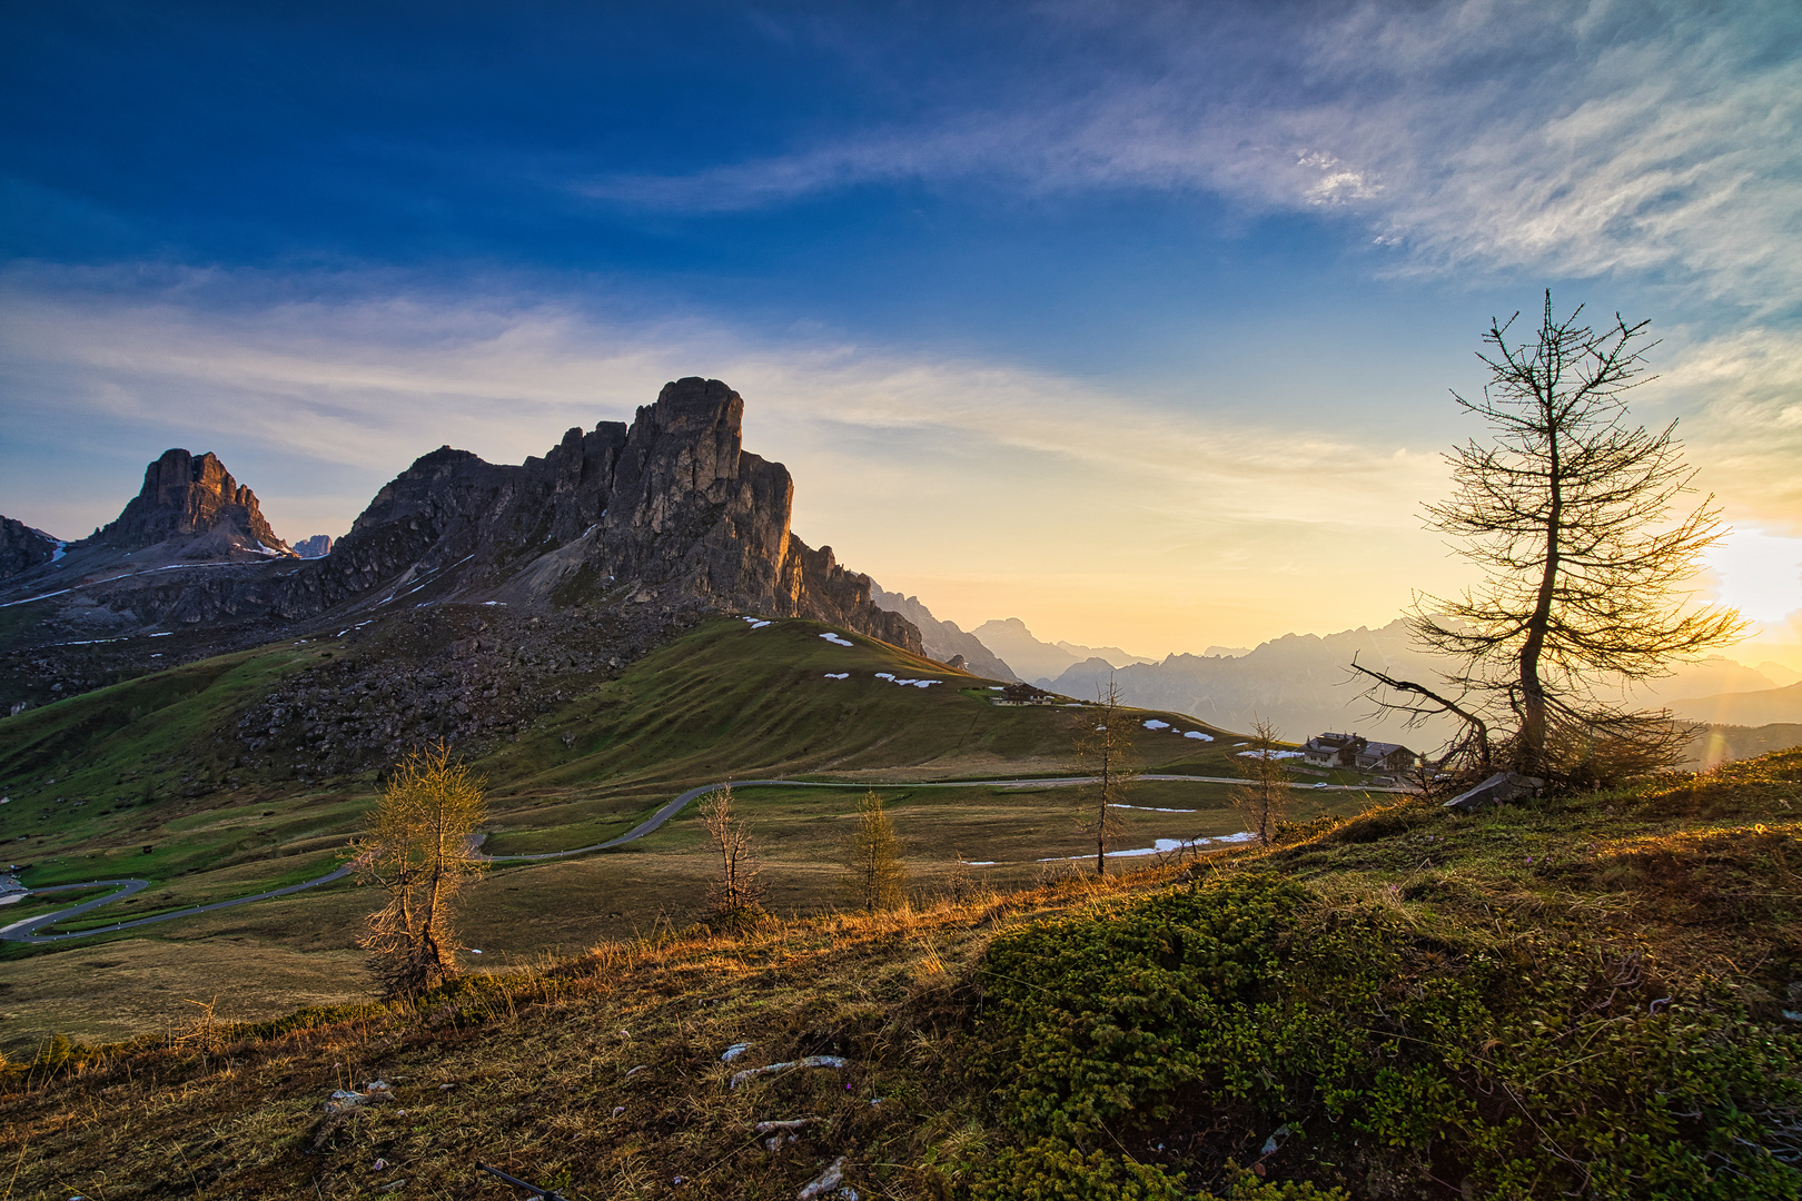
<svg viewBox="0 0 1802 1201">
<path fill-rule="evenodd" d="M 380 772 L 404 747 L 443 736 L 490 781 L 485 850 L 499 855 L 591 846 L 697 785 L 847 785 L 742 792 L 784 913 L 840 902 L 831 862 L 870 781 L 923 888 L 968 875 L 968 862 L 1016 888 L 1038 879 L 1042 859 L 1083 853 L 1070 789 L 928 783 L 1060 774 L 1079 708 L 1002 708 L 987 681 L 805 619 L 708 618 L 625 661 L 634 637 L 584 610 L 434 605 L 31 709 L 0 722 L 0 837 L 13 862 L 31 864 L 22 879 L 34 888 L 150 880 L 61 931 L 245 897 L 330 871 Z M 1191 783 L 1238 774 L 1227 736 L 1173 713 L 1139 720 L 1169 726 L 1144 729 L 1139 747 L 1148 767 L 1182 780 L 1142 785 L 1135 846 L 1238 832 L 1227 787 Z M 1310 816 L 1366 803 L 1357 789 L 1305 794 Z M 706 871 L 692 812 L 616 852 L 506 866 L 478 888 L 476 945 L 530 960 L 690 922 Z M 0 909 L 0 926 L 31 904 L 72 900 Z M 364 904 L 332 882 L 52 947 L 0 942 L 0 1048 L 16 1053 L 52 1030 L 159 1028 L 202 994 L 236 1017 L 285 1012 L 296 992 L 364 998 L 348 951 Z M 254 967 L 232 972 L 234 962 Z"/>
</svg>

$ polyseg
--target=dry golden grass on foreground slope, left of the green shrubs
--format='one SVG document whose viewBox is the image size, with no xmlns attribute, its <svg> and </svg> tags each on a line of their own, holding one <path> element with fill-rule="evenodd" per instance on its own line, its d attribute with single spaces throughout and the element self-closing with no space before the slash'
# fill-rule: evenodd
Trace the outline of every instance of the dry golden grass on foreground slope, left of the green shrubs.
<svg viewBox="0 0 1802 1201">
<path fill-rule="evenodd" d="M 571 1197 L 793 1196 L 840 1154 L 885 1196 L 921 1196 L 915 1172 L 888 1165 L 980 1136 L 953 1044 L 993 933 L 1169 875 L 607 942 L 422 1008 L 267 1037 L 196 1014 L 0 1098 L 7 1196 L 350 1197 L 400 1179 L 400 1196 L 501 1196 L 476 1160 Z M 735 1070 L 802 1055 L 851 1066 L 730 1086 Z M 333 1089 L 373 1079 L 393 1102 L 324 1120 Z M 755 1131 L 798 1116 L 816 1122 L 773 1149 Z"/>
</svg>

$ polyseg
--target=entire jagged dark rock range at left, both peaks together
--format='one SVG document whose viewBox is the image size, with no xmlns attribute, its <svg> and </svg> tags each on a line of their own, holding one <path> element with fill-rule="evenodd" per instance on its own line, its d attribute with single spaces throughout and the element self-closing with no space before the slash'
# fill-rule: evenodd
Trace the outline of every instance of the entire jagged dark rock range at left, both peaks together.
<svg viewBox="0 0 1802 1201">
<path fill-rule="evenodd" d="M 631 427 L 573 429 L 517 466 L 441 447 L 389 481 L 317 560 L 292 556 L 216 457 L 171 450 L 117 522 L 59 564 L 0 583 L 0 605 L 38 596 L 49 607 L 9 641 L 218 630 L 222 648 L 296 623 L 492 601 L 652 618 L 634 616 L 634 628 L 658 614 L 804 616 L 923 652 L 910 621 L 870 603 L 867 576 L 795 537 L 795 484 L 741 447 L 742 416 L 730 387 L 687 378 Z M 137 549 L 146 546 L 160 549 Z"/>
</svg>

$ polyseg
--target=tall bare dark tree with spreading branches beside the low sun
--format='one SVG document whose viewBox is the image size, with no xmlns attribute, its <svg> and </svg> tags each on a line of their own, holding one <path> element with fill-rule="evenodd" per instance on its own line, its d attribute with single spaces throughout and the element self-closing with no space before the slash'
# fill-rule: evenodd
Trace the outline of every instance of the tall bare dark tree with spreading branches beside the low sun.
<svg viewBox="0 0 1802 1201">
<path fill-rule="evenodd" d="M 1687 603 L 1725 529 L 1712 497 L 1672 517 L 1696 475 L 1676 421 L 1658 432 L 1625 421 L 1622 396 L 1645 382 L 1647 322 L 1616 313 L 1598 333 L 1580 315 L 1555 317 L 1546 292 L 1532 342 L 1508 340 L 1519 313 L 1492 321 L 1478 353 L 1483 400 L 1452 394 L 1492 443 L 1447 456 L 1458 488 L 1427 506 L 1429 526 L 1485 578 L 1458 598 L 1416 596 L 1409 623 L 1456 668 L 1425 686 L 1353 664 L 1382 708 L 1460 720 L 1442 763 L 1499 760 L 1564 781 L 1665 763 L 1685 731 L 1620 697 L 1744 628 L 1730 609 Z"/>
</svg>

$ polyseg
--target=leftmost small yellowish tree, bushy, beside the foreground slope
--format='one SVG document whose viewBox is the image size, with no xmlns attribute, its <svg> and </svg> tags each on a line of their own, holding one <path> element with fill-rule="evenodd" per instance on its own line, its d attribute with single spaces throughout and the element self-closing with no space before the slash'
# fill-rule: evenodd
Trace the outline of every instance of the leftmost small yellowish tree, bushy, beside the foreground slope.
<svg viewBox="0 0 1802 1201">
<path fill-rule="evenodd" d="M 357 945 L 391 996 L 456 976 L 454 913 L 461 888 L 481 871 L 472 835 L 488 816 L 483 781 L 440 742 L 404 758 L 369 810 L 351 868 L 387 893 Z"/>
</svg>

